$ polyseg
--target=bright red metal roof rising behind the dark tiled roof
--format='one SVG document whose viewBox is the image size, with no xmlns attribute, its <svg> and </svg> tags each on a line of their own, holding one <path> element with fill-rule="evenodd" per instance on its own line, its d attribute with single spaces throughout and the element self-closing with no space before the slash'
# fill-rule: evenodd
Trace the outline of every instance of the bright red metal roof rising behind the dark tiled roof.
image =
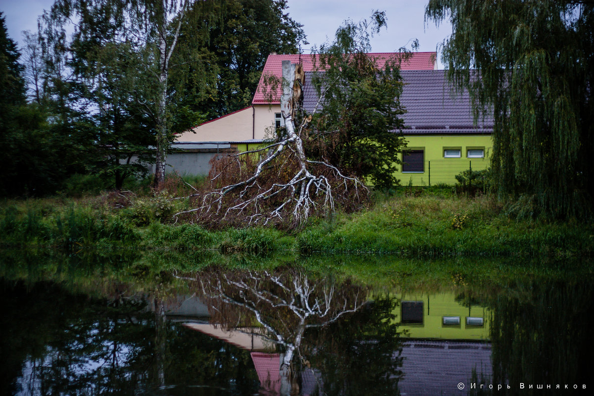
<svg viewBox="0 0 594 396">
<path fill-rule="evenodd" d="M 388 58 L 399 54 L 399 52 L 376 52 L 369 53 L 368 55 L 371 55 L 375 58 L 378 66 L 383 66 L 384 62 L 386 62 Z M 301 62 L 303 63 L 304 71 L 314 71 L 314 56 L 317 55 L 301 55 Z M 403 62 L 400 68 L 402 70 L 433 70 L 435 68 L 435 58 L 435 52 L 413 52 L 412 56 L 406 62 Z M 254 94 L 252 104 L 280 103 L 280 99 L 276 99 L 271 102 L 270 100 L 264 98 L 263 80 L 264 76 L 266 75 L 274 75 L 277 78 L 282 78 L 283 61 L 291 61 L 291 63 L 294 64 L 299 63 L 299 55 L 295 53 L 285 55 L 268 55 L 268 59 L 266 59 L 266 64 L 264 65 L 262 75 L 260 76 L 260 82 L 258 83 L 258 88 Z"/>
</svg>

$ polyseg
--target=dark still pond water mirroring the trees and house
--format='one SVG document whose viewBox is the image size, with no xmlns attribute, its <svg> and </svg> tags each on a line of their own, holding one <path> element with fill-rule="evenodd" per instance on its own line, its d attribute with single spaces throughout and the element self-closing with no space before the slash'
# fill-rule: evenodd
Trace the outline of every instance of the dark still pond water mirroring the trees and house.
<svg viewBox="0 0 594 396">
<path fill-rule="evenodd" d="M 586 394 L 590 268 L 2 252 L 0 391 Z"/>
</svg>

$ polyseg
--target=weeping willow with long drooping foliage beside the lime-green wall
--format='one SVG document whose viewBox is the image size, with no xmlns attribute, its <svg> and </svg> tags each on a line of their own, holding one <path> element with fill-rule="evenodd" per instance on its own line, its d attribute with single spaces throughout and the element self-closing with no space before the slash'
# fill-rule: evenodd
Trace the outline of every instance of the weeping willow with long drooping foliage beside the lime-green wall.
<svg viewBox="0 0 594 396">
<path fill-rule="evenodd" d="M 594 2 L 429 0 L 425 15 L 452 24 L 443 61 L 475 116 L 494 112 L 500 198 L 592 216 Z"/>
</svg>

